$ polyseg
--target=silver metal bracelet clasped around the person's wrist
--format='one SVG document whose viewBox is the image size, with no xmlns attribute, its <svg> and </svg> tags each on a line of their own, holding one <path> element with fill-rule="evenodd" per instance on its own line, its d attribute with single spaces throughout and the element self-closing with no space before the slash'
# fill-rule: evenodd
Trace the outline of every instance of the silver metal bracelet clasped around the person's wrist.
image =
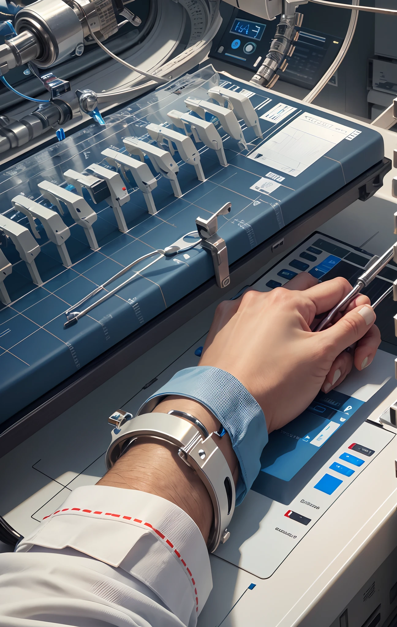
<svg viewBox="0 0 397 627">
<path fill-rule="evenodd" d="M 235 510 L 236 491 L 228 463 L 218 448 L 221 436 L 216 431 L 208 433 L 194 416 L 176 410 L 132 418 L 132 414 L 120 409 L 110 416 L 109 424 L 115 428 L 105 456 L 107 470 L 139 438 L 155 438 L 177 446 L 179 457 L 198 473 L 211 497 L 214 519 L 207 542 L 208 551 L 214 552 L 220 542 L 229 539 L 227 528 Z"/>
</svg>

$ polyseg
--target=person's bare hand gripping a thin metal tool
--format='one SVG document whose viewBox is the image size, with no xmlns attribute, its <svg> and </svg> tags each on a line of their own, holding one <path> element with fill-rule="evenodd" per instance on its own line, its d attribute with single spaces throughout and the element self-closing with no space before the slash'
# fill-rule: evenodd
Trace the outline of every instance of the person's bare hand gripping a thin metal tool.
<svg viewBox="0 0 397 627">
<path fill-rule="evenodd" d="M 344 278 L 315 285 L 300 273 L 287 288 L 249 290 L 218 305 L 199 366 L 233 374 L 263 409 L 270 431 L 304 411 L 320 389 L 329 392 L 354 365 L 368 366 L 381 341 L 369 298 L 359 295 L 331 327 L 310 330 L 351 290 Z"/>
</svg>

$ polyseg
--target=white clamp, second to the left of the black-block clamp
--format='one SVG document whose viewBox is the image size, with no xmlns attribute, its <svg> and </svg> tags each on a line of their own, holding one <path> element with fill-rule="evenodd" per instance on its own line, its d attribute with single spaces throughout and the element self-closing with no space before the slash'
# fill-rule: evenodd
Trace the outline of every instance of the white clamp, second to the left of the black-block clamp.
<svg viewBox="0 0 397 627">
<path fill-rule="evenodd" d="M 43 224 L 48 239 L 58 249 L 63 265 L 66 268 L 71 266 L 70 256 L 65 245 L 65 241 L 70 237 L 70 230 L 63 222 L 61 216 L 56 211 L 47 209 L 42 204 L 26 198 L 26 196 L 15 196 L 11 202 L 16 211 L 21 211 L 28 218 L 31 231 L 36 240 L 40 240 L 41 236 L 34 220 L 38 220 Z"/>
</svg>

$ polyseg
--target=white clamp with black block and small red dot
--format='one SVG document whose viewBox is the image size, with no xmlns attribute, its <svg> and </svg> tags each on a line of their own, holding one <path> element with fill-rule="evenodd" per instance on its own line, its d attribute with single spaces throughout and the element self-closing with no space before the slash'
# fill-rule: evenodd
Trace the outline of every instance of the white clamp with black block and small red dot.
<svg viewBox="0 0 397 627">
<path fill-rule="evenodd" d="M 85 187 L 93 203 L 98 204 L 106 201 L 113 209 L 119 231 L 127 233 L 128 228 L 121 208 L 123 204 L 129 201 L 130 196 L 120 174 L 108 170 L 106 167 L 98 166 L 96 163 L 88 166 L 87 170 L 94 172 L 97 176 L 80 174 L 75 170 L 66 170 L 63 172 L 63 176 L 65 181 L 77 189 L 80 196 L 83 196 L 83 187 Z"/>
</svg>

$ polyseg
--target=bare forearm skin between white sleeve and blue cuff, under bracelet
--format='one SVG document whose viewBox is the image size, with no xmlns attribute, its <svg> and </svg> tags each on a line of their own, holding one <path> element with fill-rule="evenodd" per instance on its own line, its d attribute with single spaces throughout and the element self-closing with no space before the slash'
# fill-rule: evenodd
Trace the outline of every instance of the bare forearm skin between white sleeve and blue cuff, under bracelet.
<svg viewBox="0 0 397 627">
<path fill-rule="evenodd" d="M 198 418 L 209 433 L 221 429 L 220 422 L 208 409 L 188 398 L 169 396 L 154 411 L 168 413 L 171 409 L 179 409 Z M 227 433 L 221 438 L 219 446 L 236 484 L 238 463 Z M 141 490 L 166 498 L 194 520 L 207 541 L 213 519 L 211 498 L 197 473 L 179 458 L 176 446 L 142 438 L 117 460 L 98 485 Z"/>
</svg>

